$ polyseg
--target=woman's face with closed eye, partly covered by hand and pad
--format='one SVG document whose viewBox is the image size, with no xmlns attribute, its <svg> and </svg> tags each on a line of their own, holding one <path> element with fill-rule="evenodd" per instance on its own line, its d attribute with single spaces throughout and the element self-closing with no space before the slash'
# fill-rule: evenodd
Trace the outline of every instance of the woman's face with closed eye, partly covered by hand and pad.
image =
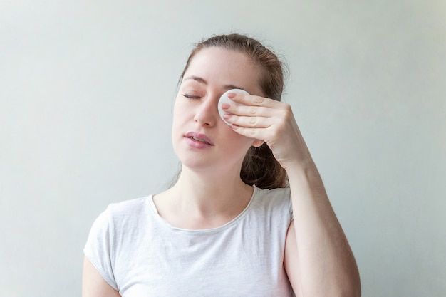
<svg viewBox="0 0 446 297">
<path fill-rule="evenodd" d="M 172 142 L 183 166 L 195 171 L 240 170 L 244 155 L 259 140 L 239 135 L 219 117 L 218 100 L 239 88 L 264 95 L 259 68 L 249 56 L 212 47 L 200 50 L 185 72 L 175 100 Z"/>
</svg>

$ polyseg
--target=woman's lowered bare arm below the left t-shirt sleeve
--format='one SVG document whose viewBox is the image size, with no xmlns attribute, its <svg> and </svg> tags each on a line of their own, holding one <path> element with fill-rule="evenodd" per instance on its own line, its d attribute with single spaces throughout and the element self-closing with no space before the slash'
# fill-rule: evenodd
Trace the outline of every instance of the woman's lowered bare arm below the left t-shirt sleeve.
<svg viewBox="0 0 446 297">
<path fill-rule="evenodd" d="M 83 259 L 82 297 L 120 297 L 118 291 L 100 276 L 87 257 Z"/>
</svg>

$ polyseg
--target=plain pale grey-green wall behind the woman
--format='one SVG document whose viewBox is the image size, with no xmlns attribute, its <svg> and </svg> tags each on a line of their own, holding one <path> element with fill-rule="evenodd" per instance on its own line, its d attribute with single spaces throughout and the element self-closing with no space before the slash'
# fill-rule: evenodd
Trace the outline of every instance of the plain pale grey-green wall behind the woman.
<svg viewBox="0 0 446 297">
<path fill-rule="evenodd" d="M 110 202 L 165 189 L 192 43 L 248 33 L 290 103 L 363 296 L 446 296 L 446 2 L 0 0 L 0 296 L 80 296 Z"/>
</svg>

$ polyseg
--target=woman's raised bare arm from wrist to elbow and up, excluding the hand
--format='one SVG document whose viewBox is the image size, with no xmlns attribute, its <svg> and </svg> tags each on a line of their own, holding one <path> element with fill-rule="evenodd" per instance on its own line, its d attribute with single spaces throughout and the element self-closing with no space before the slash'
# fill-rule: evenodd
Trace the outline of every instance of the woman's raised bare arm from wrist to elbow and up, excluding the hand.
<svg viewBox="0 0 446 297">
<path fill-rule="evenodd" d="M 316 167 L 287 172 L 294 222 L 284 264 L 296 296 L 361 296 L 355 258 Z"/>
</svg>

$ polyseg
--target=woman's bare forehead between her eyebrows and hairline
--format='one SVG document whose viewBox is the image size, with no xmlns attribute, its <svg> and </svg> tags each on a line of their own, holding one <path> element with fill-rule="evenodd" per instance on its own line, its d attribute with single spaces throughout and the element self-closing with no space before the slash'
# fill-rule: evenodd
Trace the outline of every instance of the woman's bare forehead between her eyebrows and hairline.
<svg viewBox="0 0 446 297">
<path fill-rule="evenodd" d="M 209 85 L 239 85 L 252 95 L 261 95 L 261 71 L 245 53 L 224 48 L 203 48 L 190 61 L 184 78 L 196 76 Z"/>
</svg>

